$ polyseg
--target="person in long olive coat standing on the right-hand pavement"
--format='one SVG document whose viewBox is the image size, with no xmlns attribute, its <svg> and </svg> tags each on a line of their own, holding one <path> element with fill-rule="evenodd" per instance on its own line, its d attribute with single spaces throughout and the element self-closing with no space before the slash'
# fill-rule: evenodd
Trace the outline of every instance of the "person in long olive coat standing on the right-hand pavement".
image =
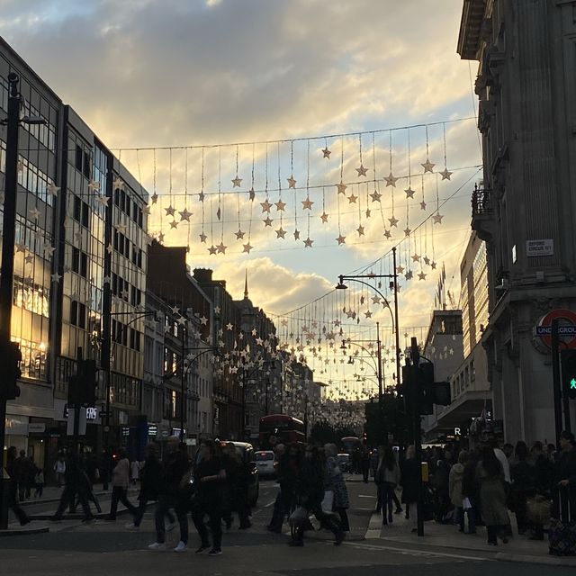
<svg viewBox="0 0 576 576">
<path fill-rule="evenodd" d="M 504 544 L 508 544 L 507 527 L 510 520 L 506 506 L 504 471 L 490 445 L 482 449 L 482 460 L 478 464 L 477 478 L 480 483 L 482 518 L 486 524 L 488 544 L 498 545 L 498 537 Z"/>
</svg>

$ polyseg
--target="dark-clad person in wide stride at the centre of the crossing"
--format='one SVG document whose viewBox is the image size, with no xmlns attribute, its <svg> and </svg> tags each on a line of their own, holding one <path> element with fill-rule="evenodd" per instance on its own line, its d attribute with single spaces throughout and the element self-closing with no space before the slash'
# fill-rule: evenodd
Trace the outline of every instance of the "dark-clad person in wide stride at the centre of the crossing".
<svg viewBox="0 0 576 576">
<path fill-rule="evenodd" d="M 296 499 L 298 505 L 305 510 L 305 520 L 294 527 L 293 538 L 288 543 L 291 546 L 304 545 L 304 526 L 310 514 L 320 521 L 334 534 L 334 545 L 341 545 L 344 540 L 344 532 L 336 519 L 322 510 L 322 500 L 326 485 L 326 466 L 320 458 L 320 452 L 316 446 L 306 446 L 302 467 L 296 485 Z"/>
</svg>

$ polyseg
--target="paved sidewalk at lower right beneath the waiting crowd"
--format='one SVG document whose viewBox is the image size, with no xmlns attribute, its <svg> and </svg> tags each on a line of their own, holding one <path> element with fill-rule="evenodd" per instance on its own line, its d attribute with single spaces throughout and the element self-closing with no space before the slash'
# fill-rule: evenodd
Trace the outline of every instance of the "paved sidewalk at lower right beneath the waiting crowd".
<svg viewBox="0 0 576 576">
<path fill-rule="evenodd" d="M 412 521 L 406 520 L 404 514 L 394 516 L 392 525 L 382 526 L 380 515 L 375 513 L 370 522 L 372 530 L 368 530 L 367 538 L 370 538 L 370 533 L 375 536 L 377 531 L 374 530 L 374 527 L 378 525 L 380 525 L 380 536 L 376 537 L 397 544 L 440 546 L 459 550 L 496 553 L 495 559 L 502 562 L 540 563 L 576 567 L 576 558 L 574 557 L 559 557 L 548 554 L 547 539 L 544 542 L 538 542 L 528 540 L 527 536 L 515 534 L 509 539 L 508 544 L 505 545 L 499 541 L 498 546 L 491 546 L 486 542 L 486 530 L 484 527 L 478 527 L 478 533 L 475 535 L 466 535 L 458 532 L 458 527 L 456 526 L 437 524 L 437 522 L 433 521 L 425 522 L 424 536 L 418 536 L 412 534 Z M 514 522 L 512 527 L 513 530 L 516 530 Z"/>
</svg>

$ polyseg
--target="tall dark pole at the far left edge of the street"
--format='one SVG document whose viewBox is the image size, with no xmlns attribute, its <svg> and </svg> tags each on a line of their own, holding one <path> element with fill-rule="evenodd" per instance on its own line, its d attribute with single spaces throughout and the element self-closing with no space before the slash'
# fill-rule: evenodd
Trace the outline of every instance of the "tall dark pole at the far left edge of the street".
<svg viewBox="0 0 576 576">
<path fill-rule="evenodd" d="M 6 163 L 4 178 L 4 219 L 2 229 L 2 267 L 0 268 L 0 344 L 8 349 L 11 337 L 12 299 L 14 284 L 14 242 L 16 237 L 16 183 L 18 176 L 18 130 L 20 130 L 20 102 L 18 92 L 20 78 L 14 72 L 8 75 L 8 116 L 6 118 Z M 1 358 L 0 362 L 5 363 Z M 4 442 L 6 432 L 6 387 L 0 383 L 0 449 L 4 476 Z M 8 482 L 0 478 L 0 529 L 8 526 L 8 499 L 4 490 Z"/>
</svg>

